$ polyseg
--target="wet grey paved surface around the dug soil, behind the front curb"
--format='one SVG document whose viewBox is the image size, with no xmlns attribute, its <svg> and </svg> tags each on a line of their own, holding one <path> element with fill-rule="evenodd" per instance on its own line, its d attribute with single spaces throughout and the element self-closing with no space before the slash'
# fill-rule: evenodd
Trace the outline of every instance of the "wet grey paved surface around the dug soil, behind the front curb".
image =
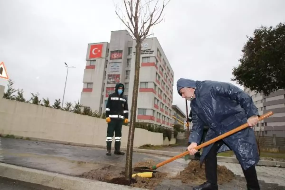
<svg viewBox="0 0 285 190">
<path fill-rule="evenodd" d="M 71 146 L 48 142 L 37 142 L 29 140 L 0 138 L 3 163 L 18 166 L 42 169 L 45 171 L 57 172 L 67 175 L 79 175 L 83 172 L 97 169 L 104 166 L 125 166 L 126 156 L 106 156 L 104 149 Z M 162 162 L 169 157 L 151 154 L 133 153 L 133 165 L 136 162 L 152 159 L 156 163 Z M 188 165 L 189 161 L 178 159 L 165 166 L 158 168 L 158 171 L 167 172 L 169 177 L 175 176 L 179 171 Z M 219 162 L 236 175 L 235 180 L 228 184 L 219 186 L 219 189 L 246 189 L 245 179 L 238 164 Z M 257 166 L 257 175 L 260 180 L 261 189 L 285 189 L 285 168 Z M 191 185 L 183 184 L 179 180 L 165 179 L 156 188 L 162 189 L 191 189 Z"/>
</svg>

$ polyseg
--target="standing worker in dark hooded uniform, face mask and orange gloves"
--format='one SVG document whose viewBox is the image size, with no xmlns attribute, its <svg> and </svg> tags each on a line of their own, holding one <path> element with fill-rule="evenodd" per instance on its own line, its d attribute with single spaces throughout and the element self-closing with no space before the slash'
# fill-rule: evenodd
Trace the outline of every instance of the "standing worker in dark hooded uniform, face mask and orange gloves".
<svg viewBox="0 0 285 190">
<path fill-rule="evenodd" d="M 122 125 L 123 122 L 128 123 L 129 108 L 127 103 L 127 97 L 124 96 L 124 85 L 117 83 L 115 92 L 110 94 L 106 104 L 106 121 L 108 123 L 107 128 L 107 155 L 111 156 L 112 140 L 115 131 L 115 152 L 117 155 L 125 155 L 120 151 L 121 137 L 122 137 Z"/>
</svg>

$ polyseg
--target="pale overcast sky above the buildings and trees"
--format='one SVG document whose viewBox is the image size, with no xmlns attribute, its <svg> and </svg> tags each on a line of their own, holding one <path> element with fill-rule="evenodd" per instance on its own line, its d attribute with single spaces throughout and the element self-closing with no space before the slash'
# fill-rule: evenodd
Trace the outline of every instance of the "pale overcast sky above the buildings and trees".
<svg viewBox="0 0 285 190">
<path fill-rule="evenodd" d="M 121 0 L 114 0 L 121 2 Z M 77 101 L 82 91 L 87 44 L 110 40 L 125 29 L 113 0 L 0 0 L 0 62 L 15 88 L 40 97 Z M 285 21 L 284 0 L 171 0 L 153 29 L 179 78 L 230 82 L 246 35 Z M 7 81 L 0 79 L 1 85 Z M 174 85 L 174 105 L 185 110 Z"/>
</svg>

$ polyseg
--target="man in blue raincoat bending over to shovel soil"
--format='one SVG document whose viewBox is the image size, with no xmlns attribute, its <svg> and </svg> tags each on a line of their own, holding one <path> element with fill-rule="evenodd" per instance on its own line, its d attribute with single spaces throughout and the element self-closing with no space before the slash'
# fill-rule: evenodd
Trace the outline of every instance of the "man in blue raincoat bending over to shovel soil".
<svg viewBox="0 0 285 190">
<path fill-rule="evenodd" d="M 205 148 L 200 158 L 205 162 L 207 181 L 193 190 L 216 190 L 217 153 L 233 150 L 245 175 L 248 190 L 260 190 L 255 165 L 259 161 L 257 143 L 252 127 L 258 122 L 258 110 L 251 97 L 230 83 L 217 81 L 194 81 L 179 79 L 177 91 L 180 96 L 191 101 L 192 134 L 188 150 L 191 155 L 201 142 L 204 124 L 209 126 L 205 142 L 242 124 L 250 127 L 217 141 Z"/>
</svg>

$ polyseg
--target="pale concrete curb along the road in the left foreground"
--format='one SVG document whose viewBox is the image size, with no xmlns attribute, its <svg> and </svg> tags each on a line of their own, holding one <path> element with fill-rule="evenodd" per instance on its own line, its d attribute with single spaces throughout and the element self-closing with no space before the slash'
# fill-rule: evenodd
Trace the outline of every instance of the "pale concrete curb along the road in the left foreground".
<svg viewBox="0 0 285 190">
<path fill-rule="evenodd" d="M 135 187 L 115 185 L 5 163 L 0 163 L 0 176 L 62 190 L 141 190 Z"/>
</svg>

